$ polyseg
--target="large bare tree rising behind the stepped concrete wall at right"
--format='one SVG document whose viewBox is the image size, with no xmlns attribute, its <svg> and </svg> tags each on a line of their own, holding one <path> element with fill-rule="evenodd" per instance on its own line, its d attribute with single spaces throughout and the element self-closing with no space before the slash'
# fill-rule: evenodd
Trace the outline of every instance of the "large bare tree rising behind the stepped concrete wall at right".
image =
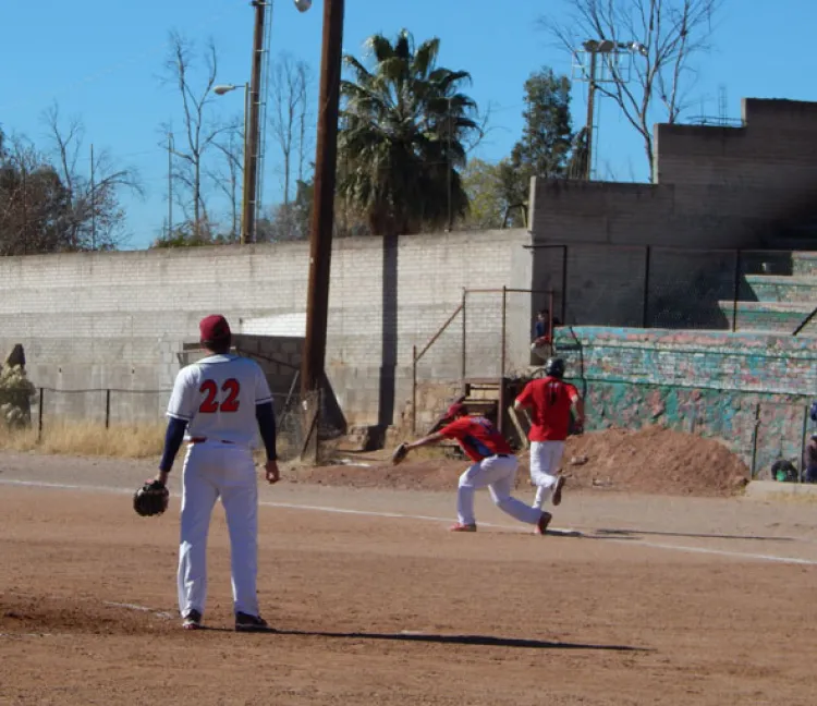
<svg viewBox="0 0 817 706">
<path fill-rule="evenodd" d="M 678 121 L 687 106 L 691 58 L 708 48 L 712 17 L 722 0 L 562 0 L 570 8 L 564 22 L 541 20 L 560 46 L 574 54 L 582 42 L 611 40 L 636 56 L 632 62 L 635 82 L 625 81 L 615 61 L 606 61 L 612 78 L 596 83 L 596 89 L 612 98 L 644 139 L 654 178 L 651 123 L 659 106 L 663 120 Z M 659 106 L 656 106 L 656 102 Z"/>
</svg>

